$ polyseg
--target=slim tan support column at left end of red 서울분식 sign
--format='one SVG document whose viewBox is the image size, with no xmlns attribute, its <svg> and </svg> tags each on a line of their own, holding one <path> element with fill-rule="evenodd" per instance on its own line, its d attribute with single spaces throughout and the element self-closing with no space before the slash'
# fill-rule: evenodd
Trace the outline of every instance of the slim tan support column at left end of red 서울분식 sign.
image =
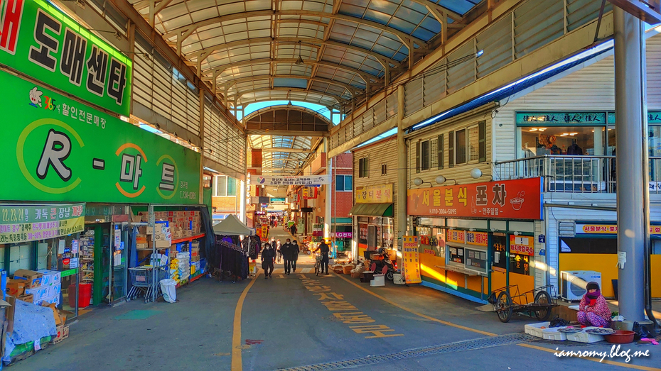
<svg viewBox="0 0 661 371">
<path fill-rule="evenodd" d="M 404 141 L 404 85 L 397 87 L 397 250 L 401 251 L 400 238 L 407 231 L 407 145 Z"/>
</svg>

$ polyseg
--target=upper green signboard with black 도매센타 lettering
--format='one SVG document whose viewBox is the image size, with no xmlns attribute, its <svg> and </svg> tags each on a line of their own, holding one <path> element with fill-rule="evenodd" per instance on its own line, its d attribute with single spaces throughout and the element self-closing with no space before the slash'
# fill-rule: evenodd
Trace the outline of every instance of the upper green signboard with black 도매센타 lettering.
<svg viewBox="0 0 661 371">
<path fill-rule="evenodd" d="M 0 64 L 129 116 L 131 60 L 46 1 L 0 1 Z"/>
</svg>

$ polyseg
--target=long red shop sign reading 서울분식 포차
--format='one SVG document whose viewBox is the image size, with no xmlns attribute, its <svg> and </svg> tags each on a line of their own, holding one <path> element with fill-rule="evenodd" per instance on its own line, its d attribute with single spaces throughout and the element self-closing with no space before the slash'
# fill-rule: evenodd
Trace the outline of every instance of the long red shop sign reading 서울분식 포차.
<svg viewBox="0 0 661 371">
<path fill-rule="evenodd" d="M 409 189 L 407 201 L 415 216 L 542 220 L 542 179 Z"/>
</svg>

